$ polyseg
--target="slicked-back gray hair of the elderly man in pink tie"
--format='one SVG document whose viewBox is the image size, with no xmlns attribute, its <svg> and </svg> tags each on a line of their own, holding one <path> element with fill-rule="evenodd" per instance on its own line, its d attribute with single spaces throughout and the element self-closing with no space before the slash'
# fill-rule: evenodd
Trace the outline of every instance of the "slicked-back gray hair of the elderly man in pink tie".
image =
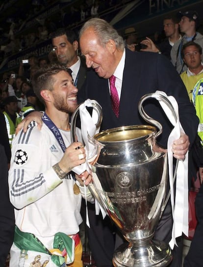
<svg viewBox="0 0 203 267">
<path fill-rule="evenodd" d="M 102 46 L 105 46 L 111 39 L 114 40 L 117 49 L 122 51 L 124 50 L 125 42 L 123 37 L 120 36 L 117 30 L 114 29 L 109 23 L 99 18 L 90 19 L 83 25 L 79 31 L 79 39 L 81 38 L 83 32 L 90 27 L 94 29 L 94 32 L 98 36 Z"/>
</svg>

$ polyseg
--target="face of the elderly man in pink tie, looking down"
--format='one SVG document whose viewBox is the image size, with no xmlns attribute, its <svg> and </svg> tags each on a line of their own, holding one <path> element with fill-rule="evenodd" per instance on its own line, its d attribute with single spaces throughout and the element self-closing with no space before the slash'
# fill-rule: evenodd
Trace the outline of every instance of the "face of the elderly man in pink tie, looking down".
<svg viewBox="0 0 203 267">
<path fill-rule="evenodd" d="M 92 67 L 102 78 L 109 78 L 114 73 L 117 62 L 115 59 L 115 43 L 109 40 L 104 46 L 92 27 L 87 28 L 80 37 L 81 53 L 85 56 L 86 65 Z"/>
</svg>

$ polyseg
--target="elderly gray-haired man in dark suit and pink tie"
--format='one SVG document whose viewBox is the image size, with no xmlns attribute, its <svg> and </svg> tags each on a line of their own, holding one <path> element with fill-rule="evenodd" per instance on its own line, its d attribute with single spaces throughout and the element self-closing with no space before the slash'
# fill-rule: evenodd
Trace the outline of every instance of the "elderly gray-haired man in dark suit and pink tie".
<svg viewBox="0 0 203 267">
<path fill-rule="evenodd" d="M 86 65 L 92 70 L 88 73 L 85 84 L 78 92 L 78 101 L 95 99 L 102 107 L 103 121 L 101 130 L 126 125 L 146 124 L 138 112 L 140 98 L 156 90 L 173 95 L 179 106 L 180 122 L 186 134 L 174 141 L 174 157 L 184 160 L 189 145 L 193 143 L 198 126 L 194 107 L 190 104 L 187 91 L 173 65 L 159 53 L 133 53 L 125 49 L 125 43 L 117 31 L 104 20 L 94 18 L 87 21 L 80 30 L 79 44 L 81 53 L 86 58 Z M 112 108 L 109 83 L 115 78 L 117 89 L 116 112 Z M 163 133 L 157 142 L 167 147 L 167 139 L 172 125 L 155 100 L 145 104 L 145 111 L 163 126 Z M 102 219 L 101 219 L 102 220 Z M 112 234 L 106 221 L 90 219 L 91 234 L 88 236 L 93 247 L 93 256 L 98 267 L 112 266 Z M 103 223 L 103 225 L 102 225 Z M 162 215 L 155 232 L 155 239 L 169 242 L 172 230 L 170 205 Z M 99 227 L 98 225 L 102 225 Z M 95 234 L 95 235 L 94 235 Z M 98 241 L 97 241 L 98 240 Z M 173 262 L 170 266 L 181 266 L 181 251 L 174 249 Z"/>
</svg>

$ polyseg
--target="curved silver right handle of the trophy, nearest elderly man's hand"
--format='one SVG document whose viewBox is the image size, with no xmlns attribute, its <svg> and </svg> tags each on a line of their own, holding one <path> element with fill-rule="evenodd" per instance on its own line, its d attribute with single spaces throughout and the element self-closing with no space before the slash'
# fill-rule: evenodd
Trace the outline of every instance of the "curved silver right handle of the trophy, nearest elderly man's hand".
<svg viewBox="0 0 203 267">
<path fill-rule="evenodd" d="M 176 112 L 175 112 L 174 107 L 172 106 L 171 102 L 164 95 L 159 95 L 158 97 L 169 107 L 175 120 L 177 121 Z M 147 115 L 147 113 L 144 111 L 144 108 L 142 106 L 143 102 L 149 98 L 155 98 L 154 94 L 152 93 L 152 94 L 144 95 L 140 99 L 140 102 L 138 104 L 138 110 L 139 110 L 140 115 L 143 117 L 144 120 L 146 120 L 147 122 L 149 122 L 152 125 L 155 125 L 156 128 L 158 129 L 158 132 L 154 135 L 154 138 L 156 138 L 157 136 L 159 136 L 162 133 L 162 125 L 159 122 L 157 122 L 156 120 L 152 119 L 149 115 Z"/>
</svg>

